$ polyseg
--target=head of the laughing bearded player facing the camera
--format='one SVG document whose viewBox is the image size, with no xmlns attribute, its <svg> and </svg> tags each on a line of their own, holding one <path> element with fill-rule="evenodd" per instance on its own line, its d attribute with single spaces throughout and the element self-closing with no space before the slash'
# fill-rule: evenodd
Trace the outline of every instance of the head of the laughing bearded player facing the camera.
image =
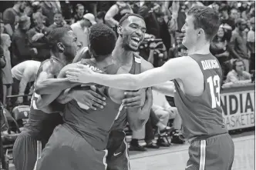
<svg viewBox="0 0 256 170">
<path fill-rule="evenodd" d="M 117 32 L 123 39 L 123 48 L 136 51 L 145 37 L 146 24 L 141 15 L 129 13 L 120 19 Z"/>
</svg>

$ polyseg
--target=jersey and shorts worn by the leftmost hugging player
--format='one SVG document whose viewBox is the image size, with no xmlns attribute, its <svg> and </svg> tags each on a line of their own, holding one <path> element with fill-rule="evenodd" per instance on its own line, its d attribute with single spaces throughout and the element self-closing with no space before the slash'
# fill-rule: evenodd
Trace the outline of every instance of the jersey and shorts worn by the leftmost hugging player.
<svg viewBox="0 0 256 170">
<path fill-rule="evenodd" d="M 39 67 L 39 72 L 42 72 L 42 64 Z M 54 128 L 62 124 L 62 116 L 58 113 L 47 114 L 36 108 L 35 102 L 38 97 L 39 95 L 34 92 L 29 121 L 25 124 L 22 133 L 15 140 L 13 146 L 13 162 L 16 170 L 32 170 L 35 166 L 37 153 L 45 147 Z"/>
</svg>

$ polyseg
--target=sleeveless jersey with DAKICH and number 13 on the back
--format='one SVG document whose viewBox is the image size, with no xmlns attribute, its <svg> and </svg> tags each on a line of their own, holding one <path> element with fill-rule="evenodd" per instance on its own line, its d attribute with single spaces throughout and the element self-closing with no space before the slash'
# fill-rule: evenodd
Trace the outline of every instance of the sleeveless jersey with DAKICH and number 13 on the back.
<svg viewBox="0 0 256 170">
<path fill-rule="evenodd" d="M 204 92 L 200 96 L 185 95 L 177 80 L 174 82 L 174 102 L 182 118 L 185 138 L 212 136 L 227 132 L 221 109 L 222 71 L 214 55 L 190 55 L 204 75 Z"/>
</svg>

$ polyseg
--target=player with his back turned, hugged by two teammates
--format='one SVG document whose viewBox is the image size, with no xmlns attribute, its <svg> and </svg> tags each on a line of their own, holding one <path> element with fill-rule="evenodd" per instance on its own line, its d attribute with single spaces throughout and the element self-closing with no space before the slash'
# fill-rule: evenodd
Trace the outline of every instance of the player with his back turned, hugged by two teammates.
<svg viewBox="0 0 256 170">
<path fill-rule="evenodd" d="M 107 44 L 102 43 L 106 41 Z M 111 55 L 115 43 L 116 35 L 111 28 L 103 24 L 93 25 L 89 34 L 89 50 L 93 58 L 83 59 L 80 63 L 92 68 L 94 72 L 116 74 L 119 65 L 113 65 Z M 66 67 L 72 66 L 76 64 Z M 61 75 L 62 71 L 58 79 Z M 65 81 L 65 78 L 62 79 Z M 63 111 L 64 123 L 59 125 L 49 138 L 35 169 L 106 169 L 109 130 L 122 111 L 120 105 L 123 91 L 118 94 L 113 89 L 103 86 L 97 86 L 96 91 L 106 96 L 105 107 L 93 110 L 76 100 L 66 103 Z M 151 90 L 147 90 L 147 94 L 150 93 Z M 148 112 L 152 105 L 152 94 L 147 96 L 150 98 L 146 99 L 143 108 Z"/>
</svg>

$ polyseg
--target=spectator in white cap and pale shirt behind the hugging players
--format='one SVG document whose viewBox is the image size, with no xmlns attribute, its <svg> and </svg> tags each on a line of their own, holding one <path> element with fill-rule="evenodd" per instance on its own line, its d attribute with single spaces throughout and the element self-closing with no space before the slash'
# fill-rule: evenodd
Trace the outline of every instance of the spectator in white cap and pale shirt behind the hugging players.
<svg viewBox="0 0 256 170">
<path fill-rule="evenodd" d="M 95 17 L 91 13 L 83 15 L 83 19 L 72 24 L 72 31 L 76 33 L 78 42 L 82 43 L 82 47 L 88 46 L 89 27 L 96 24 Z"/>
</svg>

